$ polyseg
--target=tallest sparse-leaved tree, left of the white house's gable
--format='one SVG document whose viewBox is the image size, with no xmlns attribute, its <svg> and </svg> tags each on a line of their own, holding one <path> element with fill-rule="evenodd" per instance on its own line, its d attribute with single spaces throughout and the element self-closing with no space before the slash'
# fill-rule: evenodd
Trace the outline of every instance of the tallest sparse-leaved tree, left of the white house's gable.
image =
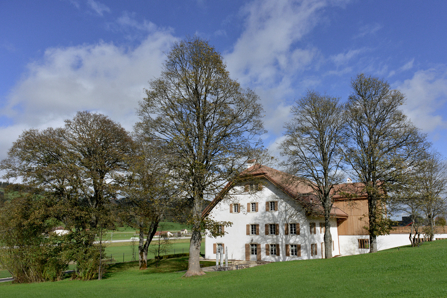
<svg viewBox="0 0 447 298">
<path fill-rule="evenodd" d="M 204 274 L 199 266 L 204 198 L 215 196 L 226 181 L 237 180 L 244 163 L 263 151 L 259 98 L 230 79 L 225 67 L 207 41 L 192 37 L 175 42 L 138 110 L 136 128 L 169 155 L 170 176 L 191 202 L 185 276 Z"/>
</svg>

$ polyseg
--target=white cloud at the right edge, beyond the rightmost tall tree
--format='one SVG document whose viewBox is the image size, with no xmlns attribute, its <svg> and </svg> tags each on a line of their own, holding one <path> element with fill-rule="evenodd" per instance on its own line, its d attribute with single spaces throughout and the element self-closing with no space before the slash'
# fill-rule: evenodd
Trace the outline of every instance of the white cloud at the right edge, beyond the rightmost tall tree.
<svg viewBox="0 0 447 298">
<path fill-rule="evenodd" d="M 417 71 L 397 88 L 405 93 L 404 112 L 417 127 L 424 132 L 447 128 L 447 67 Z"/>
</svg>

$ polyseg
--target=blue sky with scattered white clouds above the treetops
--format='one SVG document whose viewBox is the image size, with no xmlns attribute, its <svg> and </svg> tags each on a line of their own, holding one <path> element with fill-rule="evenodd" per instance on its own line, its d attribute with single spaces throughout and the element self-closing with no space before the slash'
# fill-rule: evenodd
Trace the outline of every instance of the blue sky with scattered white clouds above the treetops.
<svg viewBox="0 0 447 298">
<path fill-rule="evenodd" d="M 0 159 L 23 130 L 76 111 L 127 130 L 174 41 L 197 34 L 266 110 L 273 152 L 308 89 L 346 101 L 359 72 L 388 80 L 402 107 L 447 156 L 445 1 L 2 1 Z"/>
</svg>

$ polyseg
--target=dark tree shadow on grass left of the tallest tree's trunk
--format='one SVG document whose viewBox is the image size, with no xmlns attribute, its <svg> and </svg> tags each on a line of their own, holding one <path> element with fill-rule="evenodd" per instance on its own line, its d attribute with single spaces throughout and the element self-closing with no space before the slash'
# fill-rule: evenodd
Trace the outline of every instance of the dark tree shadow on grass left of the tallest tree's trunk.
<svg viewBox="0 0 447 298">
<path fill-rule="evenodd" d="M 107 268 L 107 272 L 103 278 L 110 278 L 116 273 L 127 270 L 139 271 L 141 274 L 172 273 L 183 271 L 188 269 L 188 257 L 184 256 L 180 258 L 163 259 L 158 262 L 158 267 L 155 267 L 155 264 L 156 261 L 154 259 L 148 260 L 148 269 L 146 270 L 139 270 L 138 261 L 111 264 Z M 212 266 L 215 262 L 201 261 L 200 264 L 203 264 L 204 266 Z"/>
</svg>

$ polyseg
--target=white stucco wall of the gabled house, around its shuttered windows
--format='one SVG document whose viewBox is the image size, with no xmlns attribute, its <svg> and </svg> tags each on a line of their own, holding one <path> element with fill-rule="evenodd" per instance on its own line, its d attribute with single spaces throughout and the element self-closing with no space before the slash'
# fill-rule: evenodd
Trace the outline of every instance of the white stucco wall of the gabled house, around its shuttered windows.
<svg viewBox="0 0 447 298">
<path fill-rule="evenodd" d="M 321 243 L 323 233 L 320 233 L 320 222 L 323 218 L 306 218 L 304 210 L 294 201 L 291 201 L 287 194 L 277 189 L 269 181 L 265 183 L 261 191 L 255 194 L 242 193 L 235 195 L 232 201 L 221 201 L 211 211 L 210 217 L 216 221 L 230 221 L 232 227 L 225 227 L 226 234 L 222 237 L 205 238 L 205 257 L 215 259 L 213 254 L 213 244 L 223 243 L 228 247 L 228 258 L 245 260 L 245 244 L 261 244 L 261 259 L 266 261 L 287 261 L 320 259 Z M 240 189 L 241 190 L 241 189 Z M 266 201 L 278 201 L 278 211 L 266 211 Z M 247 203 L 258 202 L 258 212 L 247 212 Z M 240 213 L 230 213 L 229 204 L 240 203 Z M 285 235 L 285 223 L 300 224 L 300 235 Z M 316 223 L 316 234 L 310 234 L 309 222 Z M 278 223 L 279 235 L 265 235 L 265 224 Z M 259 224 L 259 235 L 246 235 L 247 224 Z M 322 231 L 323 232 L 323 231 Z M 338 251 L 337 222 L 331 220 L 331 234 L 334 241 L 333 256 L 340 254 Z M 252 241 L 253 238 L 253 241 Z M 317 254 L 311 256 L 310 245 L 317 244 Z M 266 256 L 266 244 L 279 244 L 279 256 Z M 300 244 L 301 256 L 286 256 L 286 244 Z M 259 252 L 257 252 L 259 254 Z"/>
</svg>

